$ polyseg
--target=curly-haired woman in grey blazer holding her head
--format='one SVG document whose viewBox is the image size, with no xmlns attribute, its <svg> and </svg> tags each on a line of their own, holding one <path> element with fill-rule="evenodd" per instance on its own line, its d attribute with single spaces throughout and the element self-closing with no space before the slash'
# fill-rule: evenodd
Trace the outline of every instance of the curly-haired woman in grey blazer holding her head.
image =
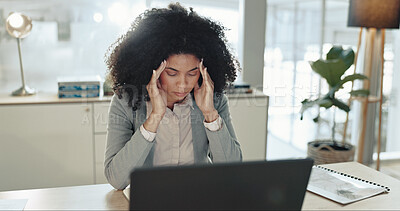
<svg viewBox="0 0 400 211">
<path fill-rule="evenodd" d="M 104 165 L 112 186 L 124 189 L 141 166 L 242 160 L 222 94 L 239 66 L 222 26 L 170 4 L 145 11 L 110 49 Z"/>
</svg>

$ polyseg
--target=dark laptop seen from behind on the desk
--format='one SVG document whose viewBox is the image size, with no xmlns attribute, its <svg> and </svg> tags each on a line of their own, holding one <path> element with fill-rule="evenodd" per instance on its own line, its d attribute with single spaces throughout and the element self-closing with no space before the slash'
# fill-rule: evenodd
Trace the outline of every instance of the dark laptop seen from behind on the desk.
<svg viewBox="0 0 400 211">
<path fill-rule="evenodd" d="M 300 210 L 312 159 L 139 168 L 129 208 Z"/>
</svg>

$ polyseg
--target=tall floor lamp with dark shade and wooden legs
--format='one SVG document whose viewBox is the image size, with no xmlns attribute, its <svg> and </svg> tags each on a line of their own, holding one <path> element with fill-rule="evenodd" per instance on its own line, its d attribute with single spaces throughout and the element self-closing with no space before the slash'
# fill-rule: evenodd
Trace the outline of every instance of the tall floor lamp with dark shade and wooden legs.
<svg viewBox="0 0 400 211">
<path fill-rule="evenodd" d="M 379 154 L 381 146 L 381 125 L 382 125 L 382 99 L 383 99 L 383 64 L 384 64 L 384 44 L 385 44 L 385 29 L 398 29 L 399 28 L 399 18 L 400 18 L 400 0 L 350 0 L 349 6 L 349 16 L 347 21 L 347 26 L 361 27 L 360 35 L 358 41 L 357 51 L 360 48 L 361 34 L 363 27 L 367 28 L 367 39 L 365 58 L 368 63 L 365 66 L 365 73 L 368 77 L 371 76 L 372 62 L 376 60 L 379 62 L 380 67 L 376 71 L 379 72 L 379 97 L 375 100 L 366 99 L 363 101 L 363 125 L 360 134 L 360 139 L 358 142 L 358 162 L 363 159 L 364 151 L 364 139 L 366 133 L 366 115 L 368 110 L 368 104 L 371 102 L 379 101 L 379 124 L 378 124 L 378 141 L 377 141 L 377 170 L 379 170 Z M 380 55 L 379 58 L 374 58 L 374 46 L 376 38 L 380 35 Z M 378 44 L 379 45 L 379 44 Z M 371 77 L 370 77 L 371 78 Z M 364 82 L 364 88 L 369 89 L 370 83 Z"/>
</svg>

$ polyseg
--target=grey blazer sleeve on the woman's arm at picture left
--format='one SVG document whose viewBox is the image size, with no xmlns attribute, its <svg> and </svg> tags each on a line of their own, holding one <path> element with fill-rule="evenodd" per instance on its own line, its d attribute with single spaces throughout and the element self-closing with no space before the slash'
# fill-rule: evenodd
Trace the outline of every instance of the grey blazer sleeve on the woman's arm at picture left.
<svg viewBox="0 0 400 211">
<path fill-rule="evenodd" d="M 140 127 L 134 129 L 133 110 L 125 99 L 114 95 L 108 112 L 104 174 L 116 189 L 128 186 L 131 171 L 143 165 L 153 146 Z"/>
</svg>

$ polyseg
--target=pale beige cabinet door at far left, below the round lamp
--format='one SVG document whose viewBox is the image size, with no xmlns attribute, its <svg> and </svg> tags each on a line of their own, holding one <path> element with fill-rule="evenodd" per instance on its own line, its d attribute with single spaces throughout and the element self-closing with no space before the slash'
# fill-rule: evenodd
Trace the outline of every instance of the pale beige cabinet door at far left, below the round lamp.
<svg viewBox="0 0 400 211">
<path fill-rule="evenodd" d="M 0 191 L 93 183 L 90 104 L 0 106 Z"/>
</svg>

